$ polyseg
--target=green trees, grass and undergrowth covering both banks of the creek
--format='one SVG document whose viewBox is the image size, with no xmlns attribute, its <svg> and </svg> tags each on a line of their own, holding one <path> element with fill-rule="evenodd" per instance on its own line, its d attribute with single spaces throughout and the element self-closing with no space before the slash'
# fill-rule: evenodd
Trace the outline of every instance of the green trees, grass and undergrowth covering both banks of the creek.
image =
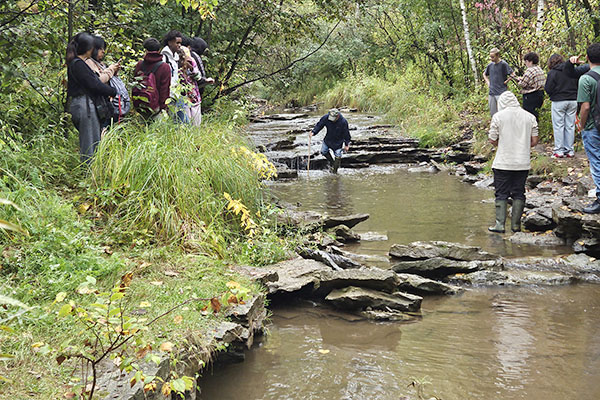
<svg viewBox="0 0 600 400">
<path fill-rule="evenodd" d="M 88 171 L 65 112 L 69 38 L 103 36 L 107 62 L 123 57 L 120 75 L 131 84 L 144 39 L 171 29 L 210 47 L 204 61 L 217 84 L 204 92 L 202 128 L 132 118 L 105 137 Z M 65 301 L 90 304 L 90 286 L 108 290 L 126 271 L 135 276 L 131 302 L 144 300 L 150 315 L 232 288 L 260 291 L 230 266 L 284 259 L 297 237 L 277 225 L 261 184 L 273 171 L 243 135 L 253 98 L 357 107 L 422 145 L 474 136 L 483 151 L 481 73 L 492 47 L 522 74 L 529 51 L 545 68 L 551 54 L 584 55 L 599 38 L 595 0 L 0 2 L 0 391 L 89 394 L 72 366 L 52 361 L 61 346 L 49 343 L 64 339 L 64 350 L 80 332 L 57 315 L 69 316 Z M 150 337 L 177 344 L 223 318 L 205 311 L 167 315 Z"/>
</svg>

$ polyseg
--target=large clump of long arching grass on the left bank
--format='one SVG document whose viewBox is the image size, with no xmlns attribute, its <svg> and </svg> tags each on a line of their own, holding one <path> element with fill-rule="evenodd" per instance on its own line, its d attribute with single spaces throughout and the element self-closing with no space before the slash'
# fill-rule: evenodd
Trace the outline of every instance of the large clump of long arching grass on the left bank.
<svg viewBox="0 0 600 400">
<path fill-rule="evenodd" d="M 229 235 L 240 232 L 225 193 L 252 214 L 261 207 L 259 175 L 238 151 L 247 146 L 225 118 L 202 128 L 169 121 L 121 124 L 103 138 L 92 164 L 95 200 L 122 240 L 222 249 Z"/>
</svg>

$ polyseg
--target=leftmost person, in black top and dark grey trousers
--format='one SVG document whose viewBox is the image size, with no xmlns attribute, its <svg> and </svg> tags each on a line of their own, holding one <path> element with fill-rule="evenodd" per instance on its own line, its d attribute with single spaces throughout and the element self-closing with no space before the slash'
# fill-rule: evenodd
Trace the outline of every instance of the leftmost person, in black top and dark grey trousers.
<svg viewBox="0 0 600 400">
<path fill-rule="evenodd" d="M 99 96 L 112 97 L 117 90 L 104 84 L 86 64 L 94 51 L 94 37 L 78 33 L 67 46 L 67 95 L 73 124 L 79 131 L 81 161 L 89 164 L 100 143 L 101 125 L 95 101 Z"/>
</svg>

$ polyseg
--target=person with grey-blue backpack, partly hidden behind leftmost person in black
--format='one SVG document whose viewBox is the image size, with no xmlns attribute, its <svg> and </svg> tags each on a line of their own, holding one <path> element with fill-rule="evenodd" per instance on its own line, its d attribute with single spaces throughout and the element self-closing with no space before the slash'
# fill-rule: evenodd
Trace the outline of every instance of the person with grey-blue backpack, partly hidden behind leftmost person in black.
<svg viewBox="0 0 600 400">
<path fill-rule="evenodd" d="M 92 57 L 86 61 L 86 64 L 92 71 L 98 75 L 102 83 L 108 83 L 110 86 L 117 90 L 117 95 L 111 100 L 113 106 L 113 115 L 106 121 L 103 121 L 102 128 L 106 128 L 111 123 L 121 122 L 123 116 L 125 116 L 131 108 L 131 100 L 129 99 L 129 92 L 125 84 L 117 76 L 117 73 L 121 69 L 121 63 L 117 62 L 107 67 L 102 60 L 106 52 L 106 42 L 101 36 L 94 36 L 94 51 L 92 51 Z"/>
</svg>

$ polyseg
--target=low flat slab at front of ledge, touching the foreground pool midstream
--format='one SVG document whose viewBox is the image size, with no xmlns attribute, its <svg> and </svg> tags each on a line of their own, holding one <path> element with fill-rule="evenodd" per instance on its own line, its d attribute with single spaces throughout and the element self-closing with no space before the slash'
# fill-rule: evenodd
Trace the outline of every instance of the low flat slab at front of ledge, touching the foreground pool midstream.
<svg viewBox="0 0 600 400">
<path fill-rule="evenodd" d="M 361 310 L 388 308 L 400 311 L 418 311 L 421 308 L 422 297 L 408 293 L 383 293 L 376 290 L 346 287 L 336 289 L 325 297 L 325 301 L 337 308 L 346 310 Z"/>
</svg>

